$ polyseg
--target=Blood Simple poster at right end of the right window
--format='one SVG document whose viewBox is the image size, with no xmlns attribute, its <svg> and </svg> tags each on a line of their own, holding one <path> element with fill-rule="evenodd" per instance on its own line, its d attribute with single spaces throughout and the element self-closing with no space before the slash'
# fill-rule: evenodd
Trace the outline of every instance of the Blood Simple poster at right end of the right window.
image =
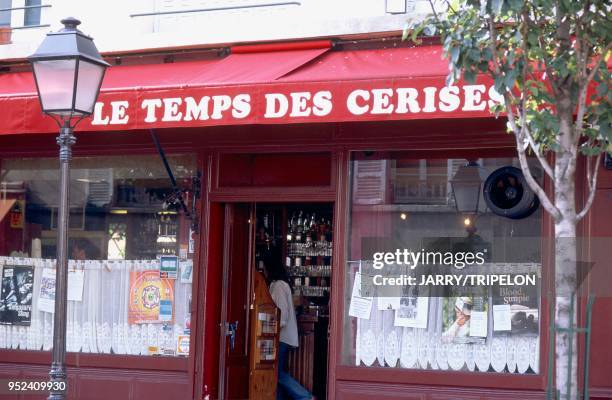
<svg viewBox="0 0 612 400">
<path fill-rule="evenodd" d="M 537 286 L 493 287 L 493 331 L 537 335 L 540 313 Z"/>
</svg>

